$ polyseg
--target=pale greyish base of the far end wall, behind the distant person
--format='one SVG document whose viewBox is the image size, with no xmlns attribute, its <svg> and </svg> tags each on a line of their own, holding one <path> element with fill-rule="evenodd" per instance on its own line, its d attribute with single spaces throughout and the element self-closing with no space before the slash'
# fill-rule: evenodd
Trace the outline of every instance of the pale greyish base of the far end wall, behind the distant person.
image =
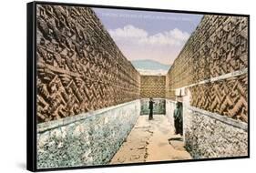
<svg viewBox="0 0 256 173">
<path fill-rule="evenodd" d="M 153 107 L 153 114 L 165 114 L 166 110 L 166 102 L 164 98 L 154 98 L 153 100 L 154 107 Z M 148 115 L 149 114 L 149 99 L 142 98 L 140 99 L 140 115 Z"/>
</svg>

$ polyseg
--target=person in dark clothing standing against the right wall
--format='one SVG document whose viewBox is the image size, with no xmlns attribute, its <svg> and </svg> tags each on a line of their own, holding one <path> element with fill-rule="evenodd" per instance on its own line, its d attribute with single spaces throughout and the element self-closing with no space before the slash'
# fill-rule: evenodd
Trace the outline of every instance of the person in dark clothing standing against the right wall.
<svg viewBox="0 0 256 173">
<path fill-rule="evenodd" d="M 182 103 L 178 102 L 174 110 L 174 127 L 175 134 L 183 135 L 183 117 L 182 117 Z"/>
</svg>

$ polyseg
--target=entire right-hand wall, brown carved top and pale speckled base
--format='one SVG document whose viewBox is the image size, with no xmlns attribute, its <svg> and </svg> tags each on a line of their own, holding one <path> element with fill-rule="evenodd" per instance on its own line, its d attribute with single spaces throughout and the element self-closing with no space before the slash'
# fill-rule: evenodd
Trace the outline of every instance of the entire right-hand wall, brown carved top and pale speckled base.
<svg viewBox="0 0 256 173">
<path fill-rule="evenodd" d="M 247 17 L 204 15 L 166 77 L 167 116 L 181 96 L 194 158 L 247 155 L 247 67 Z"/>
</svg>

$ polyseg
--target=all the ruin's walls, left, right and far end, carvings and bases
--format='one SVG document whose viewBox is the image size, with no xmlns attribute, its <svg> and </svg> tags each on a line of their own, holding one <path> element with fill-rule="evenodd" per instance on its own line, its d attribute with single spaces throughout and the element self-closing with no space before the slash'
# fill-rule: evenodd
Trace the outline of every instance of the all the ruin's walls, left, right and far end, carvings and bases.
<svg viewBox="0 0 256 173">
<path fill-rule="evenodd" d="M 193 158 L 247 155 L 246 17 L 204 15 L 166 76 L 140 76 L 89 7 L 37 5 L 36 22 L 38 168 L 108 164 L 148 97 L 170 124 L 183 102 Z"/>
</svg>

